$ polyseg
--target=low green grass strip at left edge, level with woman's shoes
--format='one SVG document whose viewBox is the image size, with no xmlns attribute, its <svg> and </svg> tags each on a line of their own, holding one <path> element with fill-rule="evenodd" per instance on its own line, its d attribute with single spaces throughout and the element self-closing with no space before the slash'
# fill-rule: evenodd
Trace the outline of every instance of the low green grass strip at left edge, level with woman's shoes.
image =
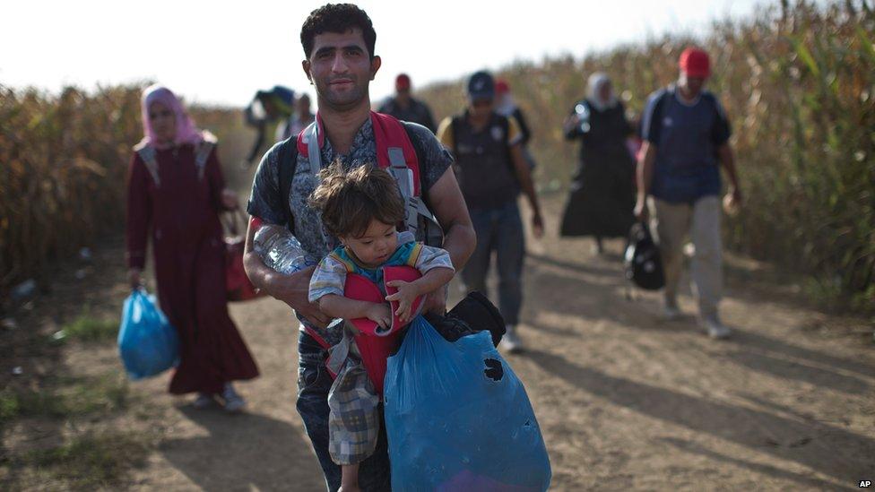
<svg viewBox="0 0 875 492">
<path fill-rule="evenodd" d="M 131 401 L 124 375 L 61 377 L 42 391 L 5 388 L 0 391 L 0 425 L 20 417 L 76 418 L 124 410 Z"/>
</svg>

